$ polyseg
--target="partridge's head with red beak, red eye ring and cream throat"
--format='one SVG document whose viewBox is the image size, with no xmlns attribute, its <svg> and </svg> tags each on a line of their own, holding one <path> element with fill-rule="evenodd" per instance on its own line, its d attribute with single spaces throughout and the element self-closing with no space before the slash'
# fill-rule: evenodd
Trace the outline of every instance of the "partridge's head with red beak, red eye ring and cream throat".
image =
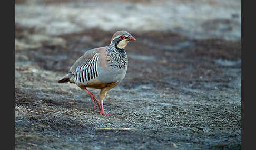
<svg viewBox="0 0 256 150">
<path fill-rule="evenodd" d="M 127 31 L 117 31 L 111 38 L 111 44 L 119 49 L 124 49 L 131 40 L 136 39 Z"/>
</svg>

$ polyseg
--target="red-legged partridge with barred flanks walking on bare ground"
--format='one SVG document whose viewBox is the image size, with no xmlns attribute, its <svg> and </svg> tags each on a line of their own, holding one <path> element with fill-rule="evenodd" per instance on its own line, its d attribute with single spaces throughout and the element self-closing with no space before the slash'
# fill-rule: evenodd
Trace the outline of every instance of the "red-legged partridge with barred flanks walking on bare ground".
<svg viewBox="0 0 256 150">
<path fill-rule="evenodd" d="M 124 48 L 130 41 L 135 40 L 129 32 L 117 31 L 113 34 L 109 46 L 86 51 L 75 61 L 68 74 L 58 80 L 58 83 L 76 84 L 90 95 L 93 109 L 96 102 L 100 110 L 98 113 L 114 115 L 105 113 L 103 100 L 107 92 L 124 79 L 128 67 L 128 57 Z M 87 88 L 100 89 L 100 102 Z"/>
</svg>

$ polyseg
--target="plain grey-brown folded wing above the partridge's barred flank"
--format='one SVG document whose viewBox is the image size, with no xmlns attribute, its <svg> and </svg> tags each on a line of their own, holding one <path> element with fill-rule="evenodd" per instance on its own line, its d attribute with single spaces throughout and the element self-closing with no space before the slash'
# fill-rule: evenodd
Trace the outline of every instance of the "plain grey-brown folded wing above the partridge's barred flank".
<svg viewBox="0 0 256 150">
<path fill-rule="evenodd" d="M 101 47 L 101 48 L 105 48 L 105 47 Z M 90 60 L 93 58 L 95 53 L 98 53 L 97 49 L 99 49 L 99 48 L 94 48 L 94 49 L 86 51 L 84 53 L 84 55 L 81 56 L 79 59 L 77 59 L 76 62 L 72 65 L 72 67 L 70 68 L 69 73 L 75 72 L 77 67 L 80 67 L 82 65 L 86 65 L 88 62 L 90 62 Z"/>
</svg>

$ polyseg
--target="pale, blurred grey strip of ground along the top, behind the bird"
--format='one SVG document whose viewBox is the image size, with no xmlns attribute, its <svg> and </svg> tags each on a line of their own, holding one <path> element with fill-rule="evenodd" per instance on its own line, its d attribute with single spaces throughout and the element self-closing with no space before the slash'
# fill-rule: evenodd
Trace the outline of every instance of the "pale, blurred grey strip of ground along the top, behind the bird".
<svg viewBox="0 0 256 150">
<path fill-rule="evenodd" d="M 15 1 L 15 22 L 47 35 L 99 28 L 172 31 L 205 39 L 241 38 L 241 1 Z"/>
</svg>

